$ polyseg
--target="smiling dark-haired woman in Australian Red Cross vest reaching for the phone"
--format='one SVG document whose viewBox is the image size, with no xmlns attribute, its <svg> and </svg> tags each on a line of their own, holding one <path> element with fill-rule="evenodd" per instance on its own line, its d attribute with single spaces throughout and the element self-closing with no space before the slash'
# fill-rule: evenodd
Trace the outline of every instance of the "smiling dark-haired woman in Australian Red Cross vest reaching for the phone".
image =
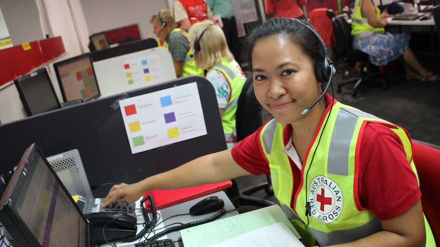
<svg viewBox="0 0 440 247">
<path fill-rule="evenodd" d="M 232 149 L 114 185 L 102 206 L 152 189 L 270 174 L 305 246 L 433 246 L 409 134 L 327 93 L 335 67 L 313 27 L 271 18 L 246 45 L 255 95 L 274 119 Z"/>
</svg>

